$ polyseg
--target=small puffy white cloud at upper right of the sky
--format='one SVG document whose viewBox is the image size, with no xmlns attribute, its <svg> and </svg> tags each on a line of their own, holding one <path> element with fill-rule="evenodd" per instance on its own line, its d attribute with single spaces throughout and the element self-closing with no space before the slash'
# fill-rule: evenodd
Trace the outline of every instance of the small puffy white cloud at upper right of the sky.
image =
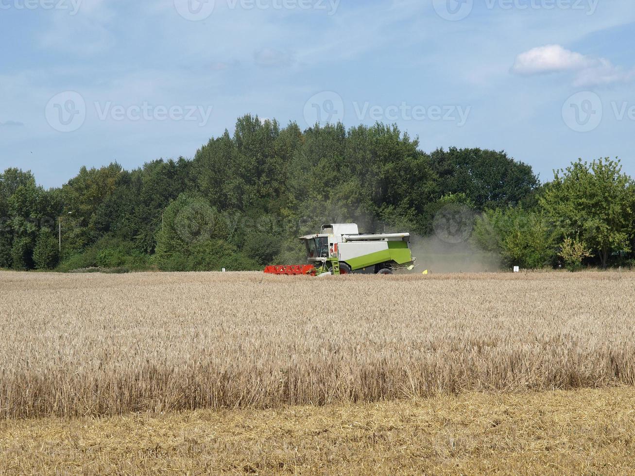
<svg viewBox="0 0 635 476">
<path fill-rule="evenodd" d="M 574 86 L 608 86 L 635 80 L 635 69 L 625 70 L 605 58 L 582 55 L 559 44 L 532 48 L 516 56 L 512 72 L 524 76 L 575 72 Z"/>
</svg>

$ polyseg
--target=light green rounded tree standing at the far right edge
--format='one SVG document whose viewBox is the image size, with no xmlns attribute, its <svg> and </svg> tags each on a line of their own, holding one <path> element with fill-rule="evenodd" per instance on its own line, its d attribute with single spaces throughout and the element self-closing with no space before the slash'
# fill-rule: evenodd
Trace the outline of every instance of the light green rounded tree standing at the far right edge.
<svg viewBox="0 0 635 476">
<path fill-rule="evenodd" d="M 540 206 L 561 239 L 576 236 L 599 257 L 603 268 L 613 251 L 631 251 L 635 184 L 622 173 L 620 161 L 579 159 L 554 173 Z"/>
</svg>

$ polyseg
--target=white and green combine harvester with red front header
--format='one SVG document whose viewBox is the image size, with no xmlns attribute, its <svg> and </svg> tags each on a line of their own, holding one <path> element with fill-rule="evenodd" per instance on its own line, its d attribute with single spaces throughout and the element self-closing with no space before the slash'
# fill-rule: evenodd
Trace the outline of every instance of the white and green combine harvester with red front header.
<svg viewBox="0 0 635 476">
<path fill-rule="evenodd" d="M 318 235 L 300 237 L 307 247 L 309 264 L 268 266 L 267 274 L 392 274 L 397 268 L 412 269 L 410 234 L 361 234 L 355 223 L 322 225 Z"/>
</svg>

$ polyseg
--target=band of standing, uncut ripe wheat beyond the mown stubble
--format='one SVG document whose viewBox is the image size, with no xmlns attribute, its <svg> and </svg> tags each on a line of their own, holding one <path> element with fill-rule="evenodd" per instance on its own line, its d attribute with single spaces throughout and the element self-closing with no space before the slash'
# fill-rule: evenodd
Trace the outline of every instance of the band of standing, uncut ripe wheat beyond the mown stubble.
<svg viewBox="0 0 635 476">
<path fill-rule="evenodd" d="M 635 274 L 0 273 L 0 420 L 635 383 Z"/>
</svg>

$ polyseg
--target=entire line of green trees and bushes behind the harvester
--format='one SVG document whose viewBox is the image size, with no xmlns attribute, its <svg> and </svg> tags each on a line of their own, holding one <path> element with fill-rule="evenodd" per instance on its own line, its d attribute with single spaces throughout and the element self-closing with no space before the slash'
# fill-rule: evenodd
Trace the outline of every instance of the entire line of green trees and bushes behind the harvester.
<svg viewBox="0 0 635 476">
<path fill-rule="evenodd" d="M 426 236 L 448 207 L 471 212 L 464 239 L 505 266 L 633 263 L 635 187 L 619 161 L 575 161 L 541 184 L 503 151 L 426 153 L 394 125 L 303 131 L 247 115 L 190 160 L 83 167 L 49 190 L 5 170 L 0 267 L 260 269 L 303 262 L 297 237 L 321 223 Z"/>
</svg>

